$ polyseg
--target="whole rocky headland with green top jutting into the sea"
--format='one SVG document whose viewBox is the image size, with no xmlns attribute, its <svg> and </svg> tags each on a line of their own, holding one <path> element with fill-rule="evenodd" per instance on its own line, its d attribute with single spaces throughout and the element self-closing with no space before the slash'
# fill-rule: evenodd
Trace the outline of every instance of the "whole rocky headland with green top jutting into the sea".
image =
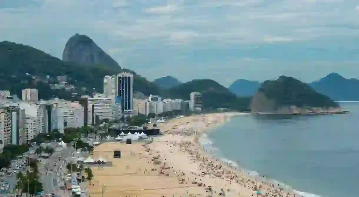
<svg viewBox="0 0 359 197">
<path fill-rule="evenodd" d="M 293 77 L 267 80 L 253 95 L 251 112 L 256 114 L 339 114 L 339 104 Z"/>
</svg>

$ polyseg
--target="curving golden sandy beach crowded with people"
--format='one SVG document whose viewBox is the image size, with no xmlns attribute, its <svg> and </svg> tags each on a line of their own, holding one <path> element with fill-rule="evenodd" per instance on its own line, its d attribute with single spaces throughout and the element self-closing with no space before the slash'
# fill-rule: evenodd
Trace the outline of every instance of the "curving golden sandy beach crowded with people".
<svg viewBox="0 0 359 197">
<path fill-rule="evenodd" d="M 248 177 L 201 148 L 201 135 L 229 118 L 206 114 L 172 119 L 159 124 L 163 135 L 152 142 L 95 147 L 93 158 L 101 156 L 113 165 L 92 168 L 88 196 L 299 196 Z M 114 150 L 121 150 L 121 158 L 113 158 Z"/>
</svg>

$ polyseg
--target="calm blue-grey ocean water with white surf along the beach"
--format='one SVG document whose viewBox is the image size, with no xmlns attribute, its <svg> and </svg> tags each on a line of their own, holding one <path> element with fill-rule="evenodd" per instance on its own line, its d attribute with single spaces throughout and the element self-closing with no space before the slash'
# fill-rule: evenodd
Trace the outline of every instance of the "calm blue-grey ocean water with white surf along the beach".
<svg viewBox="0 0 359 197">
<path fill-rule="evenodd" d="M 233 116 L 202 143 L 303 196 L 359 196 L 359 103 L 341 107 L 350 113 Z"/>
</svg>

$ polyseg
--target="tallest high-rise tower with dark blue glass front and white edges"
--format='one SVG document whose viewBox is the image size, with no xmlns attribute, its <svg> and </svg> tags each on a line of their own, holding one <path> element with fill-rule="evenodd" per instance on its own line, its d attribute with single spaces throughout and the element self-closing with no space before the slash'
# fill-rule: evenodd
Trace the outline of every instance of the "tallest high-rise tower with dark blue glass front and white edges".
<svg viewBox="0 0 359 197">
<path fill-rule="evenodd" d="M 116 96 L 121 98 L 121 111 L 124 116 L 132 116 L 134 113 L 134 76 L 131 73 L 117 75 Z"/>
</svg>

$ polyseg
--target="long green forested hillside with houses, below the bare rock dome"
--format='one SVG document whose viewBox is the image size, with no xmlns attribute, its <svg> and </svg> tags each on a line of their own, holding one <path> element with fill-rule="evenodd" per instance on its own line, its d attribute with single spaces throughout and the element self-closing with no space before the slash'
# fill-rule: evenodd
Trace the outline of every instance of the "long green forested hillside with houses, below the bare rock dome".
<svg viewBox="0 0 359 197">
<path fill-rule="evenodd" d="M 67 81 L 76 87 L 86 87 L 87 93 L 92 93 L 93 89 L 102 92 L 103 77 L 116 75 L 121 71 L 135 75 L 135 91 L 145 95 L 160 94 L 160 89 L 153 82 L 128 69 L 65 62 L 27 45 L 7 41 L 0 42 L 0 69 L 0 90 L 10 90 L 19 97 L 23 88 L 32 87 L 39 90 L 42 99 L 71 95 L 71 92 L 65 90 L 51 90 L 48 85 L 56 81 L 57 76 L 62 75 L 67 75 Z M 46 81 L 46 75 L 50 75 L 54 81 Z M 32 76 L 36 76 L 37 79 L 33 79 Z"/>
</svg>

